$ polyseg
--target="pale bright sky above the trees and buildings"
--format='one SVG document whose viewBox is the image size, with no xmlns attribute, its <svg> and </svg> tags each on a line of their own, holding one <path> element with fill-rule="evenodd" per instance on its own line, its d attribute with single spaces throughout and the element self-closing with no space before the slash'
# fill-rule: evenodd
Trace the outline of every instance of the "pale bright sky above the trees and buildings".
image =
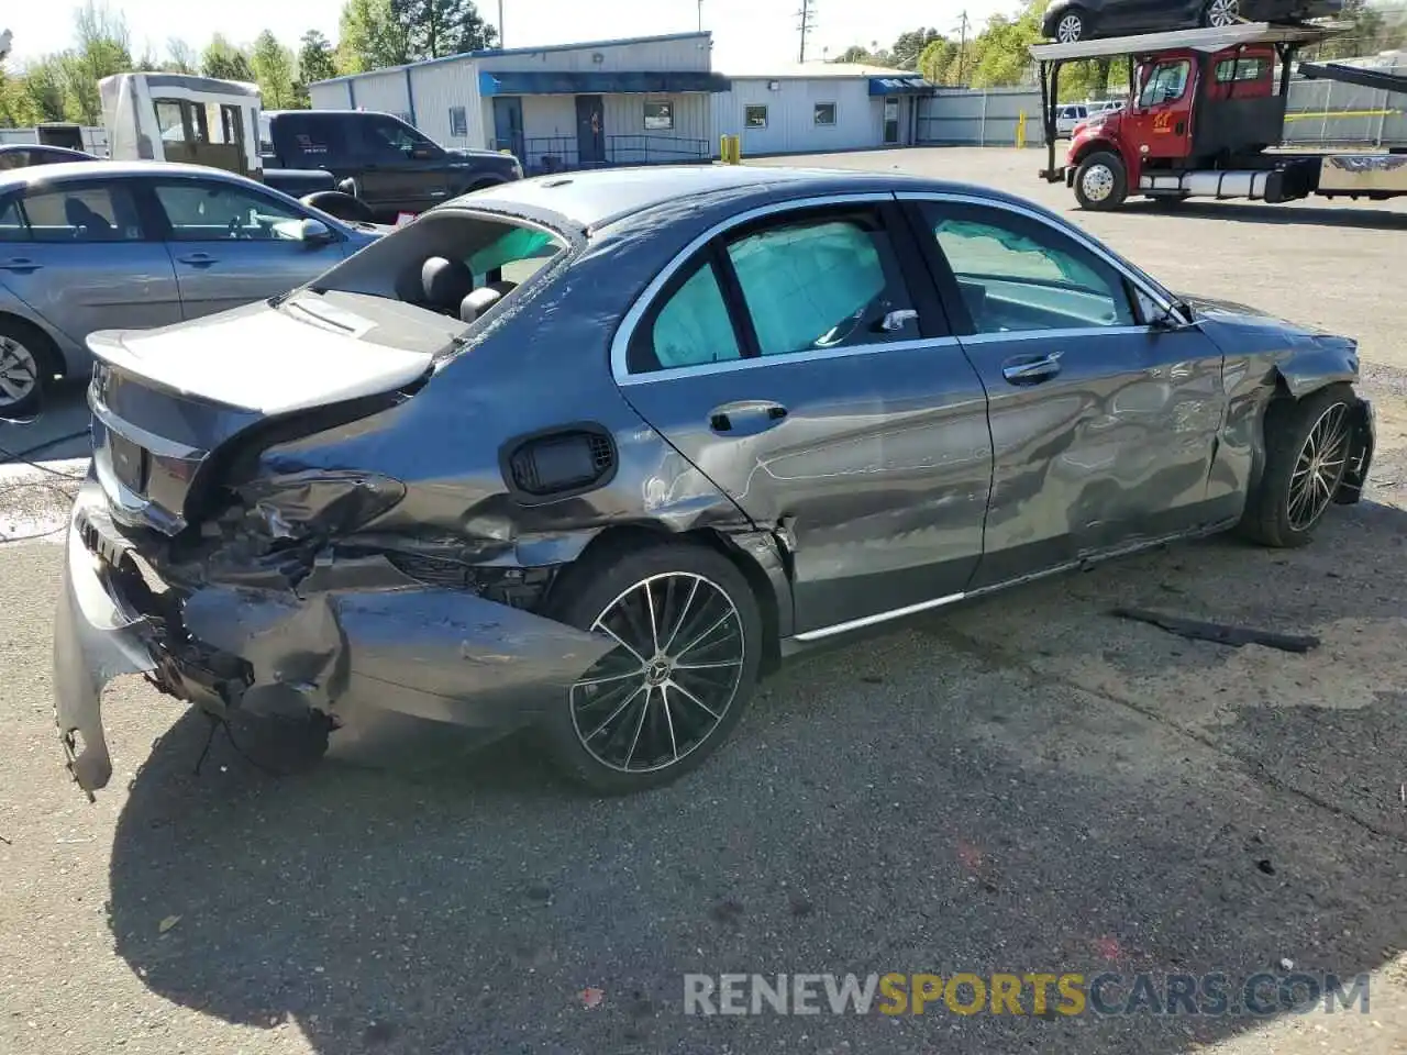
<svg viewBox="0 0 1407 1055">
<path fill-rule="evenodd" d="M 307 30 L 322 30 L 336 39 L 342 0 L 111 0 L 113 10 L 127 15 L 132 49 L 149 42 L 165 52 L 169 37 L 203 46 L 211 34 L 222 32 L 236 42 L 252 41 L 262 30 L 273 30 L 286 44 L 294 44 Z M 13 55 L 21 62 L 69 45 L 73 20 L 61 14 L 72 3 L 7 3 L 0 6 L 0 30 L 14 32 Z M 509 48 L 536 44 L 568 44 L 616 37 L 684 32 L 698 28 L 696 0 L 502 0 L 504 35 Z M 796 15 L 801 0 L 704 0 L 704 28 L 713 32 L 713 66 L 756 69 L 796 60 Z M 1019 0 L 815 0 L 816 32 L 808 44 L 808 58 L 820 58 L 823 48 L 837 55 L 851 44 L 888 45 L 905 30 L 936 25 L 955 30 L 958 13 L 981 23 L 992 11 L 1019 7 Z M 498 21 L 498 0 L 478 0 L 480 13 Z"/>
</svg>

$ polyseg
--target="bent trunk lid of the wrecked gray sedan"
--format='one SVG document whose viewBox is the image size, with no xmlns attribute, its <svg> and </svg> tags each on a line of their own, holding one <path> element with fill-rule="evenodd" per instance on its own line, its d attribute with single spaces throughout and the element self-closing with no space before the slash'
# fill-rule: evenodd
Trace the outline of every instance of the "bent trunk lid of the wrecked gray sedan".
<svg viewBox="0 0 1407 1055">
<path fill-rule="evenodd" d="M 89 338 L 93 468 L 114 519 L 176 535 L 197 477 L 236 437 L 353 421 L 424 378 L 429 342 L 380 343 L 386 319 L 295 295 L 156 331 Z"/>
</svg>

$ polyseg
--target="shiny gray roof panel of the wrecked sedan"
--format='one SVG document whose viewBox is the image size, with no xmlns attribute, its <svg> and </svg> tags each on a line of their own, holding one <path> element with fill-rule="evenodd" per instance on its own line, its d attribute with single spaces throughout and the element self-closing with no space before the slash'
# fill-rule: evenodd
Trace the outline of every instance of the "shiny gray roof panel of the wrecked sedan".
<svg viewBox="0 0 1407 1055">
<path fill-rule="evenodd" d="M 484 208 L 556 214 L 584 231 L 599 229 L 622 217 L 689 198 L 726 197 L 737 211 L 777 197 L 803 198 L 844 193 L 950 190 L 993 200 L 1020 201 L 986 187 L 947 183 L 902 172 L 861 169 L 803 169 L 747 165 L 658 165 L 594 169 L 536 176 L 501 183 L 454 198 L 446 208 Z M 1026 204 L 1026 203 L 1023 203 Z"/>
</svg>

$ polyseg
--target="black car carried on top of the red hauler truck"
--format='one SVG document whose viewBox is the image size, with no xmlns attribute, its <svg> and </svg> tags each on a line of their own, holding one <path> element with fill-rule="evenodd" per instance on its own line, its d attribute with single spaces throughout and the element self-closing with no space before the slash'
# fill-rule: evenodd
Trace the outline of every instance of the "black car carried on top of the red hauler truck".
<svg viewBox="0 0 1407 1055">
<path fill-rule="evenodd" d="M 1225 27 L 1235 23 L 1297 23 L 1332 18 L 1344 0 L 1054 0 L 1041 18 L 1041 34 L 1058 44 L 1102 37 Z"/>
</svg>

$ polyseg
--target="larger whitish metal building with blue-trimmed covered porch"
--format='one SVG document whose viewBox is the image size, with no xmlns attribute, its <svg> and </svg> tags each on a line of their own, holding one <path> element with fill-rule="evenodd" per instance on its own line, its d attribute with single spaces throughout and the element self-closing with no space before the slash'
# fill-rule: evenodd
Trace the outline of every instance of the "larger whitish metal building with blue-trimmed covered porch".
<svg viewBox="0 0 1407 1055">
<path fill-rule="evenodd" d="M 529 169 L 701 160 L 716 151 L 706 32 L 508 48 L 324 80 L 318 110 L 398 114 L 446 146 L 511 149 Z"/>
</svg>

